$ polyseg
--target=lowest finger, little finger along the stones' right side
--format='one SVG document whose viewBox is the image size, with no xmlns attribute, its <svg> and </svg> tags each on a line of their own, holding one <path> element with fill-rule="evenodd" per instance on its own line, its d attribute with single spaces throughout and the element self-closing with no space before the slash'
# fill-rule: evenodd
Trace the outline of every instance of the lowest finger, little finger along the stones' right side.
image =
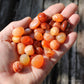
<svg viewBox="0 0 84 84">
<path fill-rule="evenodd" d="M 56 55 L 54 55 L 51 58 L 51 62 L 53 64 L 56 64 L 61 59 L 61 57 L 71 48 L 71 46 L 76 41 L 76 38 L 77 38 L 76 32 L 71 32 L 70 34 L 68 34 L 65 43 L 63 45 L 61 45 L 61 47 L 58 51 L 55 51 Z"/>
</svg>

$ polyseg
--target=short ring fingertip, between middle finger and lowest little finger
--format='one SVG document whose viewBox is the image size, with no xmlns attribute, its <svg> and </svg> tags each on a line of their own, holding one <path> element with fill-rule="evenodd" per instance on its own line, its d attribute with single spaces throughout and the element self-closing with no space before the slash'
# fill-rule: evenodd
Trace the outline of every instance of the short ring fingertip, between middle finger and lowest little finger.
<svg viewBox="0 0 84 84">
<path fill-rule="evenodd" d="M 74 30 L 74 28 L 77 26 L 77 24 L 79 23 L 79 21 L 80 21 L 80 16 L 78 14 L 73 14 L 69 18 L 68 22 L 71 24 L 70 31 Z"/>
</svg>

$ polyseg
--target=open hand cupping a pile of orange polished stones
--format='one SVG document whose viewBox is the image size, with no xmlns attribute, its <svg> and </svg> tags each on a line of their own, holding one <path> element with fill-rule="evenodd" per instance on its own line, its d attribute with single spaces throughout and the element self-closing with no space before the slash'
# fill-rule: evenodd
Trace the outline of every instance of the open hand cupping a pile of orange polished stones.
<svg viewBox="0 0 84 84">
<path fill-rule="evenodd" d="M 75 14 L 77 6 L 73 3 L 69 4 L 66 8 L 62 3 L 50 6 L 44 11 L 48 16 L 56 13 L 61 13 L 64 17 L 68 18 L 71 25 L 72 32 L 68 34 L 66 42 L 56 51 L 53 58 L 48 59 L 44 56 L 45 64 L 43 68 L 37 69 L 33 66 L 26 67 L 22 73 L 13 73 L 10 64 L 17 59 L 15 51 L 15 44 L 11 43 L 12 30 L 15 27 L 27 28 L 31 22 L 30 17 L 26 17 L 20 21 L 10 23 L 0 32 L 0 84 L 40 84 L 45 79 L 47 74 L 51 71 L 53 66 L 59 59 L 70 49 L 77 38 L 74 28 L 78 24 L 80 17 Z"/>
</svg>

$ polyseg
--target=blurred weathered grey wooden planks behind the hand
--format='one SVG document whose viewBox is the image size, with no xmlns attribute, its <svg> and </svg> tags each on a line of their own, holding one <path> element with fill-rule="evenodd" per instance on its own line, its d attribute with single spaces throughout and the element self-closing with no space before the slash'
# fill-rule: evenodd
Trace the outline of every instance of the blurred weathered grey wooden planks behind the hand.
<svg viewBox="0 0 84 84">
<path fill-rule="evenodd" d="M 26 16 L 34 18 L 55 3 L 78 5 L 81 21 L 75 31 L 78 38 L 73 47 L 54 66 L 43 84 L 84 84 L 84 0 L 0 0 L 0 30 L 11 21 Z"/>
</svg>

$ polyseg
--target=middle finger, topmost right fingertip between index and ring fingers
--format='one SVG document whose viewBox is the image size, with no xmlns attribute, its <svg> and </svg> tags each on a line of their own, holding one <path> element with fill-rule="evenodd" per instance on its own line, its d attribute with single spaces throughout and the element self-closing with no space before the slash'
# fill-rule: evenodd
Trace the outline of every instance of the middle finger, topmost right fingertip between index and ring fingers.
<svg viewBox="0 0 84 84">
<path fill-rule="evenodd" d="M 77 11 L 77 5 L 74 3 L 69 4 L 63 11 L 62 15 L 65 18 L 69 18 L 72 14 L 74 14 Z"/>
</svg>

